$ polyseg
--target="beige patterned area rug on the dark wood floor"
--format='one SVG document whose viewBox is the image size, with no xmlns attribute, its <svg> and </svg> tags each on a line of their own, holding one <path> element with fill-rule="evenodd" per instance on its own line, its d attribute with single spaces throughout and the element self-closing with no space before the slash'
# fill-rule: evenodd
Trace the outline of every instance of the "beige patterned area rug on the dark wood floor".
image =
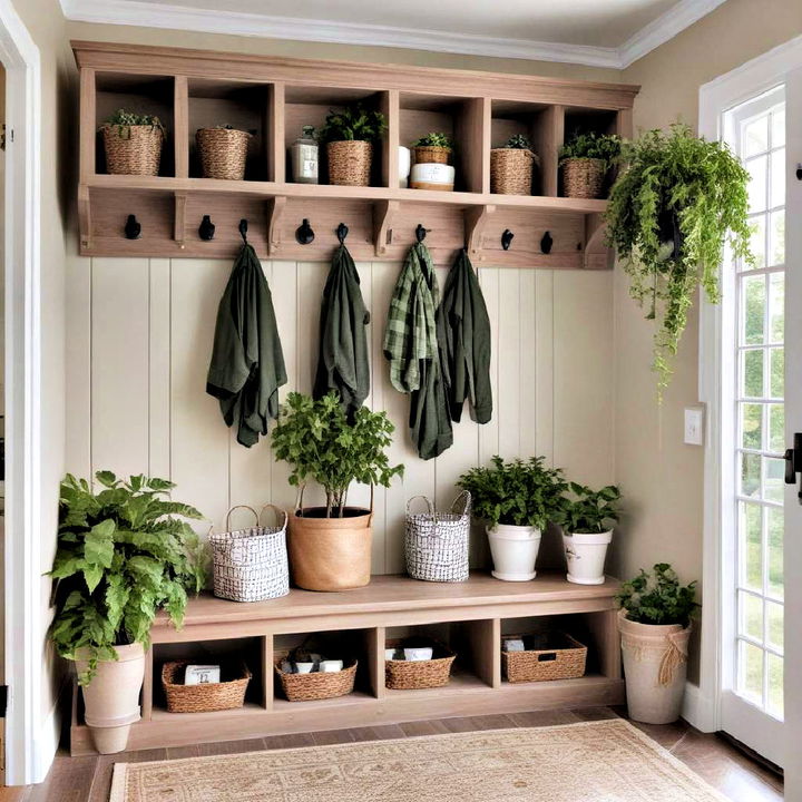
<svg viewBox="0 0 802 802">
<path fill-rule="evenodd" d="M 623 720 L 118 763 L 110 802 L 721 802 Z"/>
</svg>

